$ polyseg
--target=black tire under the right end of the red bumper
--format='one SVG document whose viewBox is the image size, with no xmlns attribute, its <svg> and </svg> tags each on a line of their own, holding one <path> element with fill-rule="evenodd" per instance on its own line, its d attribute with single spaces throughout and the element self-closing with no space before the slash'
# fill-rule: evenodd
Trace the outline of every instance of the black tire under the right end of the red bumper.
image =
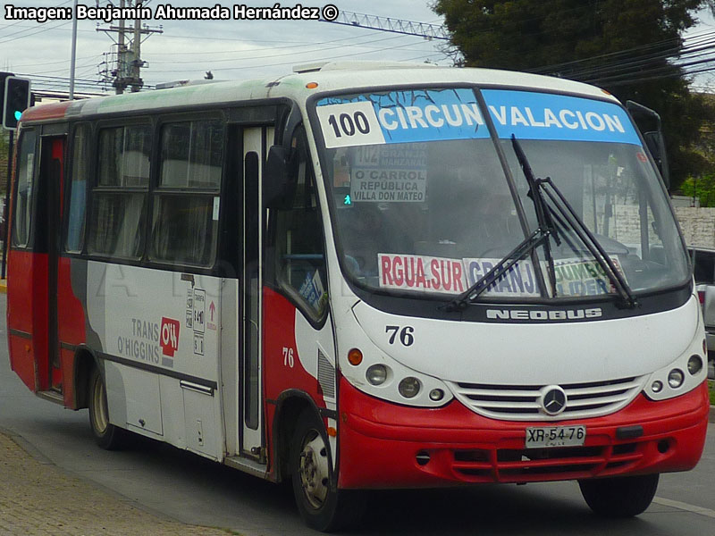
<svg viewBox="0 0 715 536">
<path fill-rule="evenodd" d="M 601 517 L 643 514 L 658 489 L 660 474 L 579 481 L 586 504 Z"/>
</svg>

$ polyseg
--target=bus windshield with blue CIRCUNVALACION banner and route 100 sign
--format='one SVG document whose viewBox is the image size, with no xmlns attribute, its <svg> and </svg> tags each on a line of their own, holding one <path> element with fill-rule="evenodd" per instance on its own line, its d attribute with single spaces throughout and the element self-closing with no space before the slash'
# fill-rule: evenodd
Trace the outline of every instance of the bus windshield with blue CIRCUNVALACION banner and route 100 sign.
<svg viewBox="0 0 715 536">
<path fill-rule="evenodd" d="M 381 91 L 316 102 L 335 238 L 368 290 L 458 296 L 544 225 L 512 137 L 544 195 L 549 236 L 482 297 L 616 295 L 591 234 L 635 295 L 682 285 L 686 252 L 652 163 L 611 102 L 467 88 Z M 489 113 L 492 132 L 484 121 Z M 541 229 L 542 231 L 544 229 Z"/>
</svg>

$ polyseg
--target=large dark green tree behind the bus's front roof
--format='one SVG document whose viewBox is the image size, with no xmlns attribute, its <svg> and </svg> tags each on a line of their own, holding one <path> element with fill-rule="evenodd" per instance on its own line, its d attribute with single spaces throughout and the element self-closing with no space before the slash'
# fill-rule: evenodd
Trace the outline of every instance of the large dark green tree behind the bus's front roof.
<svg viewBox="0 0 715 536">
<path fill-rule="evenodd" d="M 436 0 L 433 9 L 466 66 L 581 80 L 656 110 L 677 188 L 708 166 L 694 145 L 703 121 L 715 121 L 715 106 L 691 93 L 686 72 L 669 60 L 706 4 L 711 0 Z"/>
</svg>

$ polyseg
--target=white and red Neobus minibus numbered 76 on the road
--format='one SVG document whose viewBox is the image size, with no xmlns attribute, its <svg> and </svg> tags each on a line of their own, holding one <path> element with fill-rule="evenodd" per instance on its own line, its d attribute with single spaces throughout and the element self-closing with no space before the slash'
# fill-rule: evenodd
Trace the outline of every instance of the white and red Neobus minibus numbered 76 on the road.
<svg viewBox="0 0 715 536">
<path fill-rule="evenodd" d="M 708 414 L 649 145 L 601 89 L 431 66 L 31 108 L 13 370 L 103 448 L 292 479 L 318 529 L 360 490 L 480 482 L 576 480 L 637 515 Z"/>
</svg>

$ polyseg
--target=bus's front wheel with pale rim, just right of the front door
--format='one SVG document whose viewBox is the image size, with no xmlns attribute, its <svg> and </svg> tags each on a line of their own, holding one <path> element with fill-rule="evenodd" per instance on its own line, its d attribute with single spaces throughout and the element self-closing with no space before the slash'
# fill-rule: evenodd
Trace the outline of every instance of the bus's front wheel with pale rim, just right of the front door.
<svg viewBox="0 0 715 536">
<path fill-rule="evenodd" d="M 362 493 L 337 489 L 328 445 L 323 421 L 303 411 L 290 441 L 293 494 L 303 521 L 322 532 L 357 523 L 365 504 Z"/>
</svg>

